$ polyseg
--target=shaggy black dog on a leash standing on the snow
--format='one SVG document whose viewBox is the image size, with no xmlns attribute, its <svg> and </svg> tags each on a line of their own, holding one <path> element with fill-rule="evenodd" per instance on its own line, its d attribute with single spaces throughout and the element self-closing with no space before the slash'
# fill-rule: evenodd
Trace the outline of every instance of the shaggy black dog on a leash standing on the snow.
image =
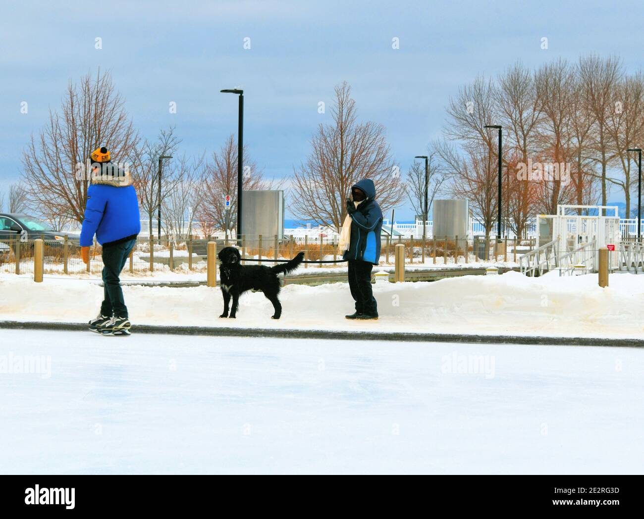
<svg viewBox="0 0 644 519">
<path fill-rule="evenodd" d="M 231 317 L 234 318 L 239 307 L 240 295 L 247 290 L 254 289 L 264 293 L 275 308 L 272 318 L 279 319 L 281 304 L 278 299 L 280 288 L 278 274 L 288 274 L 298 268 L 304 259 L 304 253 L 300 252 L 292 260 L 274 267 L 242 265 L 240 264 L 242 259 L 240 251 L 234 247 L 224 247 L 218 257 L 221 262 L 219 279 L 223 294 L 223 314 L 220 317 L 228 317 L 228 305 L 232 296 Z"/>
</svg>

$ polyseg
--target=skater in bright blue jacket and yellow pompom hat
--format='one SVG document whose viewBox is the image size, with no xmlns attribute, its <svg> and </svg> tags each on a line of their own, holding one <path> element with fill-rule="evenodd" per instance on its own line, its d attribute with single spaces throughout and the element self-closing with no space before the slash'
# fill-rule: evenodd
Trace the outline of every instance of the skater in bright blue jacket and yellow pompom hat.
<svg viewBox="0 0 644 519">
<path fill-rule="evenodd" d="M 104 298 L 90 330 L 105 335 L 129 335 L 128 308 L 120 287 L 120 271 L 141 230 L 137 192 L 129 172 L 111 163 L 105 147 L 91 154 L 91 185 L 81 230 L 81 256 L 90 262 L 94 234 L 102 246 Z"/>
</svg>

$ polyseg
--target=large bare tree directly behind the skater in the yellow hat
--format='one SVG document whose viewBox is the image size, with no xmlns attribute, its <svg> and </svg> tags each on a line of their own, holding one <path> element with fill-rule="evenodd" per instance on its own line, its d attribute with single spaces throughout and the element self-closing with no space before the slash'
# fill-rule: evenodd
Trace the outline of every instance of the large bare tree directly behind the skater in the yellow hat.
<svg viewBox="0 0 644 519">
<path fill-rule="evenodd" d="M 88 73 L 79 84 L 70 80 L 61 111 L 50 110 L 49 122 L 37 137 L 32 135 L 23 152 L 29 205 L 49 217 L 82 222 L 90 184 L 84 164 L 91 152 L 105 146 L 113 161 L 131 163 L 137 143 L 124 98 L 109 73 Z"/>
</svg>

